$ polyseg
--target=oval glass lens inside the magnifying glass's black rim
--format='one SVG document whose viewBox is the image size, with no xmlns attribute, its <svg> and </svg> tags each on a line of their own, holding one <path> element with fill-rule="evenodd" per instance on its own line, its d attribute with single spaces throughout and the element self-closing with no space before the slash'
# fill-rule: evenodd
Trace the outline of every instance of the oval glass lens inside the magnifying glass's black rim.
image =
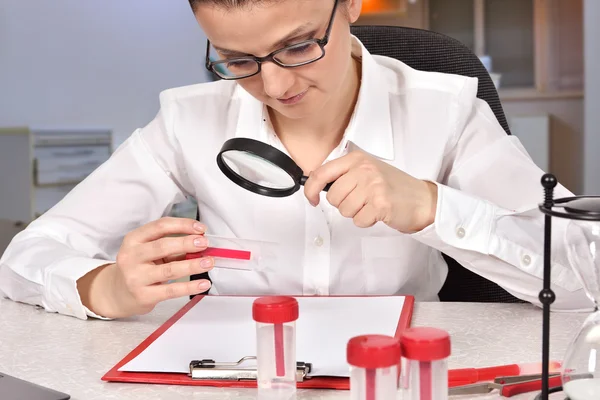
<svg viewBox="0 0 600 400">
<path fill-rule="evenodd" d="M 222 160 L 235 174 L 268 189 L 291 189 L 296 183 L 281 167 L 243 150 L 230 150 Z"/>
</svg>

